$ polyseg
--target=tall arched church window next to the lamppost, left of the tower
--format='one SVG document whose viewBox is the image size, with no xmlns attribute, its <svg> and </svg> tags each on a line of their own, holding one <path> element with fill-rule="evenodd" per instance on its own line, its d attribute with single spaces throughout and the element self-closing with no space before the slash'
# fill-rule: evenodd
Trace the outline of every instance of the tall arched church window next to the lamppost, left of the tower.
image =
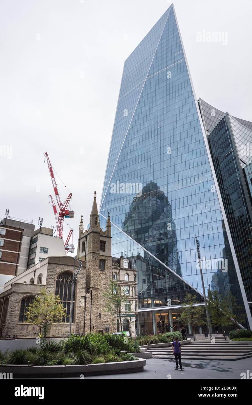
<svg viewBox="0 0 252 405">
<path fill-rule="evenodd" d="M 75 286 L 74 282 L 72 285 L 73 275 L 68 271 L 60 273 L 56 279 L 55 295 L 59 295 L 59 299 L 63 307 L 66 308 L 66 313 L 62 318 L 62 322 L 69 323 L 70 321 L 70 305 L 71 305 L 71 290 L 73 290 L 73 306 L 72 306 L 72 322 L 74 322 L 74 306 L 75 306 Z"/>
</svg>

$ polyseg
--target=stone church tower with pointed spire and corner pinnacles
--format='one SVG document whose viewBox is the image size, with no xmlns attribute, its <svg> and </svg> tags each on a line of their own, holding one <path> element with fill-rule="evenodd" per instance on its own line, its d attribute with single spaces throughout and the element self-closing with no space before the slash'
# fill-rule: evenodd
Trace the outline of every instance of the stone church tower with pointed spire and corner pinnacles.
<svg viewBox="0 0 252 405">
<path fill-rule="evenodd" d="M 113 332 L 116 329 L 111 315 L 104 311 L 105 302 L 103 297 L 104 292 L 108 290 L 112 278 L 111 239 L 109 213 L 106 231 L 104 232 L 100 227 L 96 192 L 94 192 L 89 229 L 83 232 L 83 219 L 81 215 L 78 239 L 78 259 L 87 262 L 86 294 L 88 296 L 88 311 L 91 313 L 91 333 Z M 87 328 L 89 329 L 88 331 Z M 85 333 L 89 333 L 89 331 L 90 325 L 89 322 L 86 322 Z"/>
</svg>

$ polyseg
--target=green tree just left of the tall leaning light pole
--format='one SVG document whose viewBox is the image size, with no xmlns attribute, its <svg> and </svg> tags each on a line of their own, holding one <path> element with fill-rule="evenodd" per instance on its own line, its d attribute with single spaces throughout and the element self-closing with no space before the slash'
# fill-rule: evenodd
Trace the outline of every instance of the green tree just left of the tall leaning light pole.
<svg viewBox="0 0 252 405">
<path fill-rule="evenodd" d="M 199 324 L 205 325 L 204 320 L 205 308 L 201 305 L 194 306 L 196 301 L 196 296 L 193 294 L 186 294 L 184 298 L 184 303 L 181 306 L 181 314 L 178 321 L 182 321 L 185 325 L 188 325 L 188 320 L 193 328 L 193 339 L 195 335 L 195 328 Z"/>
</svg>

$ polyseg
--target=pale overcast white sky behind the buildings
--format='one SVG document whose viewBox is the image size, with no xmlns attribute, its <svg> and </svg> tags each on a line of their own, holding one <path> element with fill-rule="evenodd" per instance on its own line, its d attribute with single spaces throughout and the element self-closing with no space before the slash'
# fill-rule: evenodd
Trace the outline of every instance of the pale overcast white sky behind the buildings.
<svg viewBox="0 0 252 405">
<path fill-rule="evenodd" d="M 47 151 L 73 194 L 68 223 L 77 247 L 94 190 L 100 203 L 123 63 L 170 4 L 1 0 L 0 145 L 11 146 L 12 157 L 0 156 L 0 218 L 8 208 L 55 225 Z M 197 98 L 252 121 L 252 2 L 174 0 L 174 7 Z M 227 45 L 197 42 L 203 30 L 227 32 Z M 64 200 L 68 190 L 58 185 Z"/>
</svg>

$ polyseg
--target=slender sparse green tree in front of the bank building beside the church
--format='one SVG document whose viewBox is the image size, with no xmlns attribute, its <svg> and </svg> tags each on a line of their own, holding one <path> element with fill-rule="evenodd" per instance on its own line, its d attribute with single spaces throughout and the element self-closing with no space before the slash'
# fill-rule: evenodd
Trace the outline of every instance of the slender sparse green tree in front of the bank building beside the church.
<svg viewBox="0 0 252 405">
<path fill-rule="evenodd" d="M 129 300 L 129 294 L 126 294 L 126 292 L 127 292 L 126 288 L 120 286 L 116 280 L 110 280 L 108 290 L 103 294 L 105 298 L 104 311 L 110 313 L 114 320 L 117 320 L 117 318 L 119 318 L 122 335 L 123 335 L 122 319 L 124 318 L 123 315 L 131 312 L 130 310 L 128 311 L 125 308 L 126 301 Z"/>
</svg>

